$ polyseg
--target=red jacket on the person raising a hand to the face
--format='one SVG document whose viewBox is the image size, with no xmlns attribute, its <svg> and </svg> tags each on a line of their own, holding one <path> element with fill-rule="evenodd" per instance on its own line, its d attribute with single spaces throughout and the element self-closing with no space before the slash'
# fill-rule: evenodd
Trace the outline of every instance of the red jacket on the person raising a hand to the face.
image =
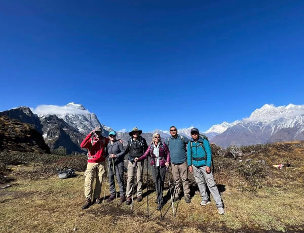
<svg viewBox="0 0 304 233">
<path fill-rule="evenodd" d="M 99 163 L 105 161 L 105 158 L 103 158 L 103 156 L 105 153 L 105 147 L 109 142 L 109 139 L 105 137 L 99 139 L 97 139 L 95 136 L 93 136 L 93 138 L 91 137 L 92 135 L 88 134 L 85 140 L 83 140 L 83 142 L 80 144 L 80 147 L 89 150 L 88 163 Z"/>
</svg>

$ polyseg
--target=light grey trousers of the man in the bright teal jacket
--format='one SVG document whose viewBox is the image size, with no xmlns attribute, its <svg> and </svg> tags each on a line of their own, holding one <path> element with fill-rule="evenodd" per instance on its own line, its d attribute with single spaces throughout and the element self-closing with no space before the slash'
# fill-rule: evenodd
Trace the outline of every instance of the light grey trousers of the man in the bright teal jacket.
<svg viewBox="0 0 304 233">
<path fill-rule="evenodd" d="M 192 165 L 192 168 L 193 168 L 194 178 L 195 178 L 195 180 L 199 186 L 200 192 L 201 192 L 202 201 L 209 200 L 208 193 L 206 191 L 206 184 L 205 184 L 205 181 L 206 181 L 208 188 L 210 190 L 210 193 L 215 201 L 216 207 L 217 208 L 223 207 L 223 201 L 222 201 L 219 191 L 215 185 L 212 172 L 207 174 L 206 166 L 196 167 L 196 166 Z"/>
</svg>

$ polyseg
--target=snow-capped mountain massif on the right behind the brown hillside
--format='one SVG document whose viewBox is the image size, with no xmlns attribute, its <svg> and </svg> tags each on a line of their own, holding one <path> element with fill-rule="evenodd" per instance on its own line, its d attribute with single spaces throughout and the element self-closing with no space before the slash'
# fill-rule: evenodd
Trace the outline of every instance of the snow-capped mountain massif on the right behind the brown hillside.
<svg viewBox="0 0 304 233">
<path fill-rule="evenodd" d="M 265 104 L 254 110 L 249 118 L 232 124 L 211 142 L 225 148 L 230 145 L 304 140 L 304 105 L 276 107 Z"/>
</svg>

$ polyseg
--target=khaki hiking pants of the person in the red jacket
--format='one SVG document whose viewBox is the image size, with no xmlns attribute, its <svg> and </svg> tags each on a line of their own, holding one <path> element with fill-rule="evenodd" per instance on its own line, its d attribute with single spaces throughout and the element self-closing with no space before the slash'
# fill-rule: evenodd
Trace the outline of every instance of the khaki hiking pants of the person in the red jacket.
<svg viewBox="0 0 304 233">
<path fill-rule="evenodd" d="M 100 163 L 88 163 L 85 178 L 85 196 L 86 199 L 92 199 L 93 182 L 96 174 L 96 183 L 93 198 L 100 198 L 102 177 L 104 174 L 105 161 Z"/>
</svg>

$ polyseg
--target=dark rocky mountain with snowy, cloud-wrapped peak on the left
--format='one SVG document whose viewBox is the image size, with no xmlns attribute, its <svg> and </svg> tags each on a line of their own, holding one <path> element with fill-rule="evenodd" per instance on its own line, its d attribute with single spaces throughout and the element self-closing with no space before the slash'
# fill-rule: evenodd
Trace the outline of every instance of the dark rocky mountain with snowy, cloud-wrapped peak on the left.
<svg viewBox="0 0 304 233">
<path fill-rule="evenodd" d="M 95 127 L 103 128 L 103 134 L 112 131 L 100 124 L 97 116 L 81 104 L 68 103 L 65 106 L 41 105 L 35 109 L 17 107 L 0 112 L 12 119 L 34 125 L 51 150 L 63 146 L 67 152 L 82 151 L 79 147 L 86 135 Z"/>
</svg>

